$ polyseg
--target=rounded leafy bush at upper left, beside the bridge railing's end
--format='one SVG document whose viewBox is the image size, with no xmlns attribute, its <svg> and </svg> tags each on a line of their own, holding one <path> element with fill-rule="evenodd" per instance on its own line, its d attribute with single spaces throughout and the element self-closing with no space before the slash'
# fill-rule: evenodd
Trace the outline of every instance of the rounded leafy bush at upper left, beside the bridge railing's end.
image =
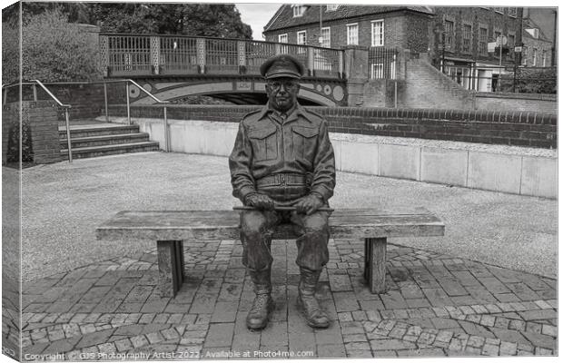
<svg viewBox="0 0 563 363">
<path fill-rule="evenodd" d="M 22 29 L 24 80 L 91 81 L 98 78 L 97 44 L 57 10 L 32 16 Z"/>
</svg>

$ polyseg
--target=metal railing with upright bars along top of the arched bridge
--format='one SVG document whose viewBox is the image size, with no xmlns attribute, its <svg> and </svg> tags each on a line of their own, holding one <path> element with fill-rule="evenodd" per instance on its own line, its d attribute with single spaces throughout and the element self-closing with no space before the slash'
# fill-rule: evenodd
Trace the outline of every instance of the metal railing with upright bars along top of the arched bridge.
<svg viewBox="0 0 563 363">
<path fill-rule="evenodd" d="M 309 76 L 343 78 L 340 49 L 187 35 L 100 34 L 101 64 L 108 77 L 182 74 L 260 74 L 274 54 L 292 54 Z"/>
</svg>

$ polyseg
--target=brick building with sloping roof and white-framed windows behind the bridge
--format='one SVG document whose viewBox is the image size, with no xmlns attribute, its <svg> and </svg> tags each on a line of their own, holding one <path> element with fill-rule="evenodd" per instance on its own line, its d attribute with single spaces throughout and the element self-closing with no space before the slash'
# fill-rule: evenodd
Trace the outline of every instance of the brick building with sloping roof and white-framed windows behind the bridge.
<svg viewBox="0 0 563 363">
<path fill-rule="evenodd" d="M 427 6 L 282 5 L 263 34 L 268 42 L 426 52 L 432 16 Z"/>
</svg>

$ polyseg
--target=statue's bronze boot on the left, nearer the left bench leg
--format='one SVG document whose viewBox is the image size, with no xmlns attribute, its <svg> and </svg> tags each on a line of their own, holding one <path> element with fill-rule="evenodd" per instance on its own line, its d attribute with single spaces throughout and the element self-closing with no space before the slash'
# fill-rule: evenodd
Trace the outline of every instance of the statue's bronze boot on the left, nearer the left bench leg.
<svg viewBox="0 0 563 363">
<path fill-rule="evenodd" d="M 264 329 L 268 325 L 268 315 L 273 310 L 272 282 L 270 281 L 270 269 L 262 271 L 250 271 L 254 283 L 256 297 L 246 317 L 248 329 Z"/>
</svg>

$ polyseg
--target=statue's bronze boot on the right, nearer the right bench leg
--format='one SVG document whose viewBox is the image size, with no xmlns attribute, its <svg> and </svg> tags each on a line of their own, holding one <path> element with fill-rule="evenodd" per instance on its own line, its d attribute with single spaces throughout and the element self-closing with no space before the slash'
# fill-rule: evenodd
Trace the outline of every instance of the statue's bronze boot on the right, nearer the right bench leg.
<svg viewBox="0 0 563 363">
<path fill-rule="evenodd" d="M 311 328 L 328 328 L 330 320 L 326 312 L 319 306 L 319 301 L 315 298 L 317 281 L 321 276 L 321 271 L 311 271 L 301 268 L 301 281 L 299 283 L 299 295 L 297 303 L 303 308 L 303 314 L 307 324 Z"/>
</svg>

